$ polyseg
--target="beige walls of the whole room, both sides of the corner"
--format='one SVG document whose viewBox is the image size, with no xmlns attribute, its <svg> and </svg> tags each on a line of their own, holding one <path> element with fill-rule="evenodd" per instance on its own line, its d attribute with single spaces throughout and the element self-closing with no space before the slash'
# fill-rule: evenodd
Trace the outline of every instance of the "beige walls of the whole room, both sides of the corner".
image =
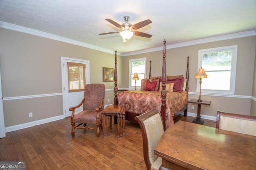
<svg viewBox="0 0 256 170">
<path fill-rule="evenodd" d="M 63 115 L 62 95 L 15 99 L 19 96 L 62 94 L 61 57 L 90 61 L 90 83 L 105 84 L 107 89 L 105 104 L 112 103 L 114 82 L 103 82 L 102 67 L 114 68 L 114 53 L 104 53 L 3 28 L 0 29 L 0 37 L 2 94 L 4 99 L 11 98 L 11 100 L 3 100 L 5 127 Z M 256 96 L 256 85 L 252 86 L 255 80 L 252 77 L 255 72 L 256 36 L 166 50 L 168 75 L 185 75 L 187 56 L 190 56 L 188 95 L 190 100 L 198 98 L 194 78 L 198 71 L 198 50 L 228 45 L 238 45 L 235 96 L 202 95 L 203 100 L 210 100 L 212 104 L 209 107 L 202 106 L 201 114 L 216 116 L 216 110 L 220 109 L 250 115 L 251 108 L 256 109 L 255 101 L 250 98 L 252 93 L 254 97 Z M 129 59 L 146 57 L 147 70 L 152 60 L 152 76 L 159 76 L 162 73 L 162 56 L 162 50 L 127 57 L 118 56 L 118 88 L 129 87 L 127 78 Z M 148 74 L 149 72 L 147 77 Z M 110 102 L 107 102 L 107 99 L 110 99 Z M 196 109 L 196 107 L 194 110 L 188 109 L 188 112 L 196 113 Z M 28 117 L 29 112 L 33 112 L 33 117 Z"/>
</svg>

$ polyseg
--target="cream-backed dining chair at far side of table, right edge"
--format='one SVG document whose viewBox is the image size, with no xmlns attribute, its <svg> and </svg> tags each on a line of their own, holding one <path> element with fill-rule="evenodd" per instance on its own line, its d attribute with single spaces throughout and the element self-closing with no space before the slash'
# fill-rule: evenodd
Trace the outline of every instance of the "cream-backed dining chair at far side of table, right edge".
<svg viewBox="0 0 256 170">
<path fill-rule="evenodd" d="M 256 116 L 217 111 L 217 129 L 256 136 Z"/>
</svg>

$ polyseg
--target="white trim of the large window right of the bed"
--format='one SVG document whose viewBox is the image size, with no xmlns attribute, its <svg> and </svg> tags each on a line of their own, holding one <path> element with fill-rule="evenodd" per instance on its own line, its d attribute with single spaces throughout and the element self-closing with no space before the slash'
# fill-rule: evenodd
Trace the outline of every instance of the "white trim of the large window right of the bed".
<svg viewBox="0 0 256 170">
<path fill-rule="evenodd" d="M 213 53 L 214 51 L 232 51 L 232 62 L 231 62 L 231 76 L 230 76 L 230 90 L 205 90 L 201 89 L 201 94 L 227 94 L 234 95 L 235 94 L 235 85 L 236 85 L 236 60 L 237 60 L 237 49 L 238 45 L 231 45 L 225 47 L 216 47 L 210 49 L 201 49 L 198 50 L 198 69 L 202 67 L 202 55 L 204 53 Z M 202 79 L 203 81 L 203 79 Z M 196 92 L 200 92 L 200 83 L 199 79 L 196 84 Z"/>
</svg>

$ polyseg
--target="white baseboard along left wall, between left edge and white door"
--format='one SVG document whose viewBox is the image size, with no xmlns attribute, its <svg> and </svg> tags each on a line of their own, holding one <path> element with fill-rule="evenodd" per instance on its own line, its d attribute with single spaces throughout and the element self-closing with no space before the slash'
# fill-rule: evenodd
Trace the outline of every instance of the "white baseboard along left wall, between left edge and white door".
<svg viewBox="0 0 256 170">
<path fill-rule="evenodd" d="M 6 127 L 5 128 L 5 133 L 12 132 L 12 131 L 17 131 L 17 130 L 20 130 L 20 129 L 25 129 L 25 128 L 36 126 L 36 125 L 41 125 L 41 124 L 44 124 L 44 123 L 49 123 L 49 122 L 60 120 L 60 119 L 65 119 L 65 115 L 49 117 L 49 118 L 42 119 L 42 120 L 37 120 L 37 121 L 28 122 L 28 123 L 23 123 L 23 124 L 20 124 L 20 125 Z"/>
</svg>

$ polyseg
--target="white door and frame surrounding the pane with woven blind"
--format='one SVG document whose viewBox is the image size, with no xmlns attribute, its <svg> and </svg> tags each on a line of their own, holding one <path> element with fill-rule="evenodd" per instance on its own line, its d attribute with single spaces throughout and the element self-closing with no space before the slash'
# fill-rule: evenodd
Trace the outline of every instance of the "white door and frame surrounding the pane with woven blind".
<svg viewBox="0 0 256 170">
<path fill-rule="evenodd" d="M 86 84 L 90 83 L 90 76 L 89 76 L 90 66 L 89 66 L 89 61 L 86 61 L 86 60 L 62 57 L 61 61 L 62 61 L 63 111 L 64 111 L 64 115 L 66 117 L 69 117 L 72 114 L 72 111 L 69 111 L 69 108 L 80 104 L 80 102 L 84 98 L 84 91 L 68 92 L 68 62 L 86 64 L 86 69 L 85 69 Z M 82 110 L 83 110 L 83 105 L 75 110 L 76 111 L 75 114 Z"/>
</svg>

